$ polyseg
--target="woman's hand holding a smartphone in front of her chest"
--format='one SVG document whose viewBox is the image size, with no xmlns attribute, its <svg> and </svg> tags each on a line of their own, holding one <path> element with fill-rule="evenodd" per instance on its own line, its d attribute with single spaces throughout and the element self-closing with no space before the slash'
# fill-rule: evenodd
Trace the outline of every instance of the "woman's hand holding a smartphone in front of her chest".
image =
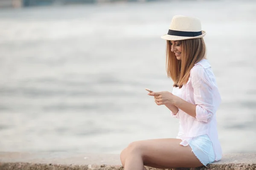
<svg viewBox="0 0 256 170">
<path fill-rule="evenodd" d="M 154 96 L 157 105 L 174 105 L 176 96 L 169 91 L 160 91 L 148 93 L 149 96 Z"/>
</svg>

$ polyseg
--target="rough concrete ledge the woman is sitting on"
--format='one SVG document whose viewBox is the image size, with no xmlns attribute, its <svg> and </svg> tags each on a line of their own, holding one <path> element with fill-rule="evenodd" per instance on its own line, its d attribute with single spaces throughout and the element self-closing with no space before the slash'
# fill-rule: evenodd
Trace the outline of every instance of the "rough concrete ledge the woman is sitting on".
<svg viewBox="0 0 256 170">
<path fill-rule="evenodd" d="M 151 167 L 147 169 L 157 170 Z M 256 153 L 227 154 L 221 161 L 209 164 L 208 167 L 195 168 L 195 170 L 209 169 L 256 170 Z M 119 155 L 115 154 L 0 152 L 0 170 L 123 170 L 123 167 Z"/>
</svg>

